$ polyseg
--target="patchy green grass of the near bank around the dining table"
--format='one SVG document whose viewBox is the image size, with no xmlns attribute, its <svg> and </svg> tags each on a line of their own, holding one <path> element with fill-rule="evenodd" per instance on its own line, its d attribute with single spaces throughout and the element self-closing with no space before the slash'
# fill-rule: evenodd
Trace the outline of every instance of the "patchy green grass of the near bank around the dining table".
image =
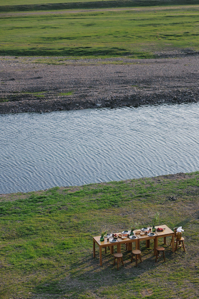
<svg viewBox="0 0 199 299">
<path fill-rule="evenodd" d="M 197 299 L 198 188 L 196 172 L 0 195 L 1 299 L 167 299 L 176 290 L 180 298 Z M 173 195 L 175 202 L 167 199 Z M 125 247 L 119 271 L 109 250 L 99 266 L 92 236 L 103 225 L 113 231 L 129 228 L 132 219 L 146 225 L 156 211 L 160 225 L 183 225 L 186 253 L 173 254 L 167 238 L 166 263 L 155 263 L 153 244 L 146 249 L 141 242 L 137 268 Z"/>
</svg>

